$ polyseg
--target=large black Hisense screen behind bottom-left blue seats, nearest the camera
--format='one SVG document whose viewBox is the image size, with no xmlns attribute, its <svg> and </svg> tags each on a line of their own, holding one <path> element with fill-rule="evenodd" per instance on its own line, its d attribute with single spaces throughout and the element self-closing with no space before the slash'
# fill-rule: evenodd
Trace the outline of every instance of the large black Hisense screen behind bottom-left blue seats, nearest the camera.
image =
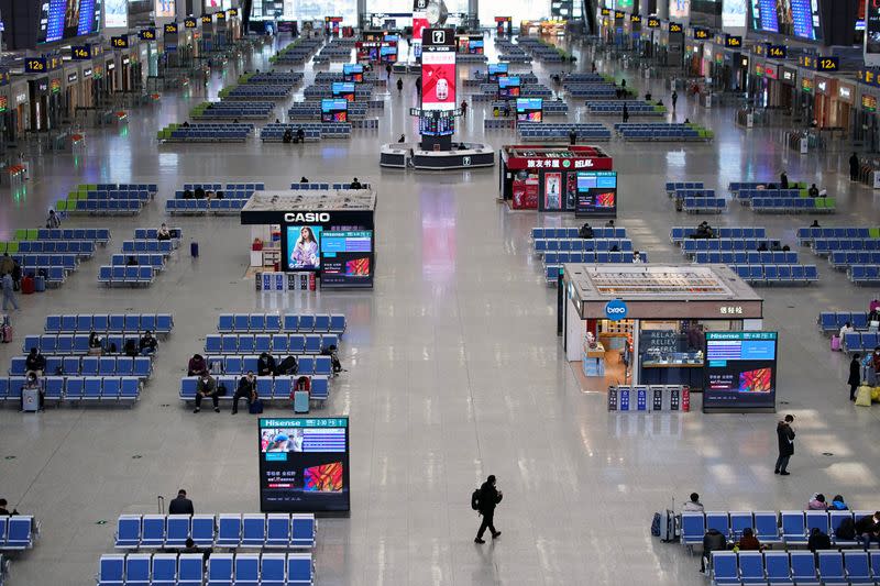
<svg viewBox="0 0 880 586">
<path fill-rule="evenodd" d="M 349 418 L 260 418 L 260 510 L 348 512 Z"/>
</svg>

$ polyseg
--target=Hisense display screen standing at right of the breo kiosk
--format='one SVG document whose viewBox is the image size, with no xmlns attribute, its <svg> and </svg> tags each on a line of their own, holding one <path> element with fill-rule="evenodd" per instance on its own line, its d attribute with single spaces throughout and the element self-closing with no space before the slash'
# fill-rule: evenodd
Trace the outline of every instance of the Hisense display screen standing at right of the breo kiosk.
<svg viewBox="0 0 880 586">
<path fill-rule="evenodd" d="M 777 332 L 706 332 L 703 410 L 776 410 Z"/>
</svg>

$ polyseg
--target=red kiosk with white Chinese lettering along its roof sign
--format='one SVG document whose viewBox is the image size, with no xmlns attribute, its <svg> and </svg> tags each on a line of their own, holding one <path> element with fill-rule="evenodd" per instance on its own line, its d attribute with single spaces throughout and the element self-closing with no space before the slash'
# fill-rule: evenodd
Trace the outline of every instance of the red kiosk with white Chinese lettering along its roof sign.
<svg viewBox="0 0 880 586">
<path fill-rule="evenodd" d="M 499 158 L 499 196 L 512 208 L 616 217 L 614 162 L 598 146 L 506 145 Z"/>
</svg>

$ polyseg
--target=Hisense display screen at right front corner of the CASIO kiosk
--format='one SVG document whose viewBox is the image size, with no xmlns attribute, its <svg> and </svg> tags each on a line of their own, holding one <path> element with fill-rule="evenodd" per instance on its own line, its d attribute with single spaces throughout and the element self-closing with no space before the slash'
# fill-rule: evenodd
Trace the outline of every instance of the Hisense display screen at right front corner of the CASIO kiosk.
<svg viewBox="0 0 880 586">
<path fill-rule="evenodd" d="M 321 287 L 373 286 L 373 232 L 327 231 L 321 234 Z"/>
</svg>

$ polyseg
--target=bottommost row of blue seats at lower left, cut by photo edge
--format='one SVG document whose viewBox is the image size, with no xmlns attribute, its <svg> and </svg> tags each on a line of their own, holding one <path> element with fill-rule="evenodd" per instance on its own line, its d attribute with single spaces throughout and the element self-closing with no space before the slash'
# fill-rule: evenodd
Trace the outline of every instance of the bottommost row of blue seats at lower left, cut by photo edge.
<svg viewBox="0 0 880 586">
<path fill-rule="evenodd" d="M 98 586 L 310 586 L 310 553 L 103 554 Z"/>
</svg>

